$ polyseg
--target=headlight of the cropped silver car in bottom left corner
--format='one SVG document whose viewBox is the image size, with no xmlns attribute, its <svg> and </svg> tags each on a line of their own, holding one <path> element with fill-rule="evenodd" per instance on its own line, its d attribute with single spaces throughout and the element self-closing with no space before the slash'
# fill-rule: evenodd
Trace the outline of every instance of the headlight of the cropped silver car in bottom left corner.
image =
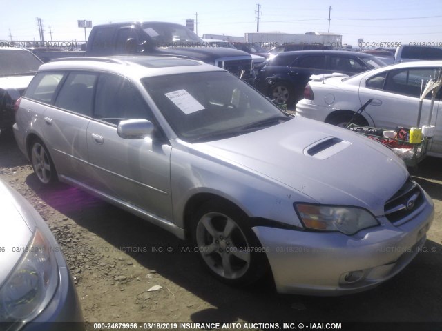
<svg viewBox="0 0 442 331">
<path fill-rule="evenodd" d="M 21 261 L 0 289 L 0 321 L 26 322 L 44 310 L 58 285 L 54 248 L 40 230 L 23 250 Z"/>
</svg>

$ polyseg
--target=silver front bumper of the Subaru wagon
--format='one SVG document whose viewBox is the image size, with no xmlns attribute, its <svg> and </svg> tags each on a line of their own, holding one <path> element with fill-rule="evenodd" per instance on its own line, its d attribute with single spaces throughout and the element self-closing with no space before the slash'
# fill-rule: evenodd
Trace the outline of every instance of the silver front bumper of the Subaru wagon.
<svg viewBox="0 0 442 331">
<path fill-rule="evenodd" d="M 267 253 L 279 293 L 333 296 L 374 288 L 403 270 L 425 251 L 433 217 L 429 201 L 407 223 L 380 225 L 353 236 L 263 226 L 253 230 Z M 381 223 L 389 224 L 387 219 Z"/>
</svg>

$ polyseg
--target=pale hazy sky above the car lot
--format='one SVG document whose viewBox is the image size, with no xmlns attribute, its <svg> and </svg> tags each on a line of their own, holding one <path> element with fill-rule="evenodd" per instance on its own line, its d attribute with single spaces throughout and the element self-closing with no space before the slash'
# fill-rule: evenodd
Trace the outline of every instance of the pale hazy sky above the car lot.
<svg viewBox="0 0 442 331">
<path fill-rule="evenodd" d="M 358 47 L 380 43 L 432 43 L 442 47 L 442 0 L 1 0 L 0 41 L 84 41 L 78 20 L 93 26 L 122 21 L 198 21 L 198 35 L 243 37 L 256 32 L 330 32 Z M 330 11 L 329 21 L 329 7 Z M 5 10 L 5 8 L 10 8 Z M 197 17 L 198 14 L 198 17 Z M 52 32 L 52 34 L 50 33 Z M 86 28 L 86 38 L 90 28 Z M 12 37 L 11 37 L 12 36 Z"/>
</svg>

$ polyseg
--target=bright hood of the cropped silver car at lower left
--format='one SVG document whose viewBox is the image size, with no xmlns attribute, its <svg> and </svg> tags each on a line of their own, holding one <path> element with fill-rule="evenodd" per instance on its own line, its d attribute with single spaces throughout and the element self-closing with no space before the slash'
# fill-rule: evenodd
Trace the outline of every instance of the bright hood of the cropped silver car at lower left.
<svg viewBox="0 0 442 331">
<path fill-rule="evenodd" d="M 0 181 L 0 286 L 21 258 L 32 237 L 15 194 Z"/>
</svg>

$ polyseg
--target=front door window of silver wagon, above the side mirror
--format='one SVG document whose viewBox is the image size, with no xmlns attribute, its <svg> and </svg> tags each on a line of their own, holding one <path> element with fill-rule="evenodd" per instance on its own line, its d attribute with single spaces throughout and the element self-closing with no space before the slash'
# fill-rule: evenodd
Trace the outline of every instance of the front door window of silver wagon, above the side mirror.
<svg viewBox="0 0 442 331">
<path fill-rule="evenodd" d="M 151 111 L 133 84 L 114 74 L 99 77 L 93 117 L 117 124 L 122 119 L 150 119 Z"/>
</svg>

